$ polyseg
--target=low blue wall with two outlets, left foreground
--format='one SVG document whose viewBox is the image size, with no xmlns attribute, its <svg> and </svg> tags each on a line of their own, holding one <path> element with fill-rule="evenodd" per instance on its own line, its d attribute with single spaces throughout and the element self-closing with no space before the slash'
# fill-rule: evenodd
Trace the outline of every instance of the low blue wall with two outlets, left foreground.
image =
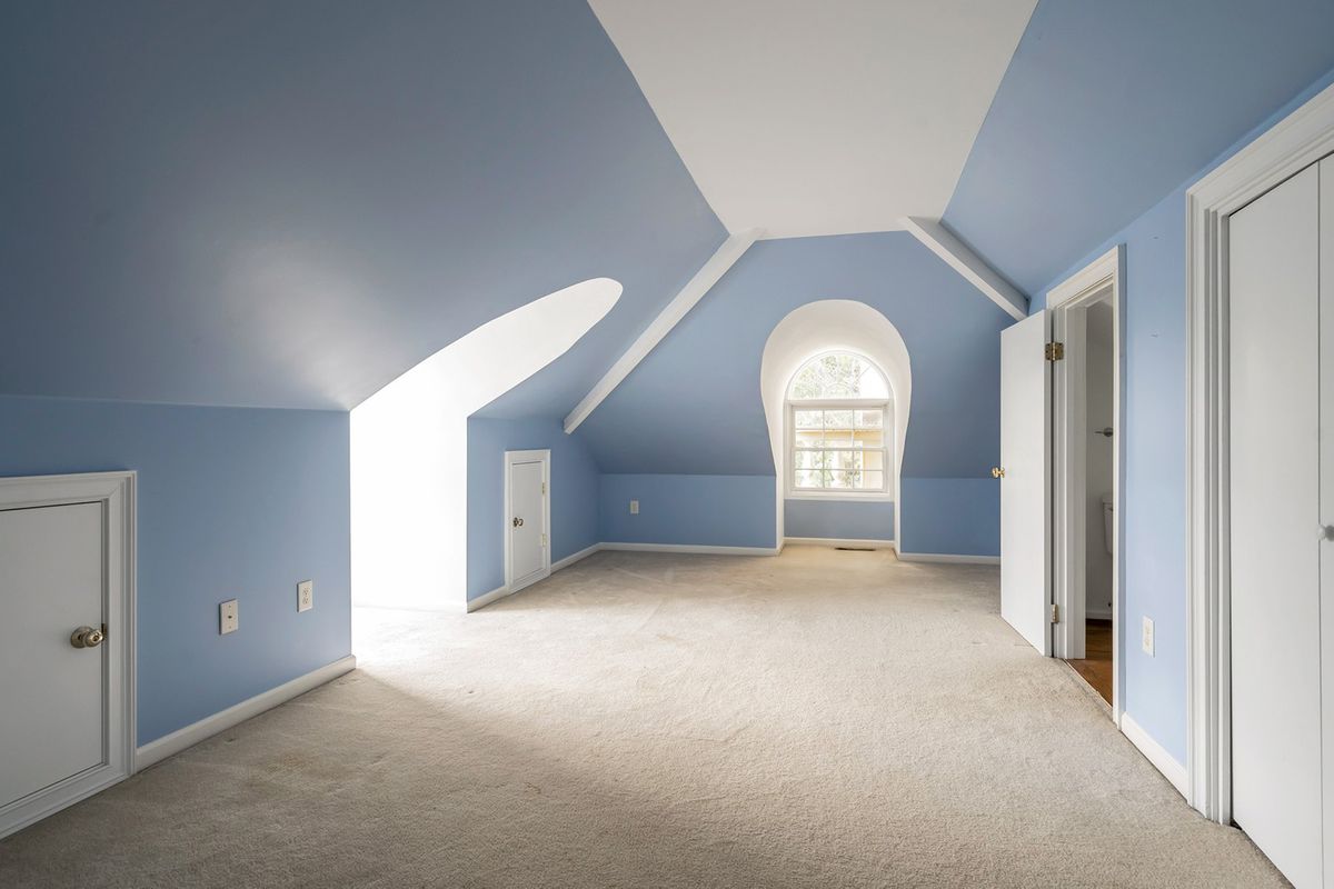
<svg viewBox="0 0 1334 889">
<path fill-rule="evenodd" d="M 139 472 L 140 744 L 351 653 L 347 413 L 0 396 L 0 474 L 111 469 Z"/>
</svg>

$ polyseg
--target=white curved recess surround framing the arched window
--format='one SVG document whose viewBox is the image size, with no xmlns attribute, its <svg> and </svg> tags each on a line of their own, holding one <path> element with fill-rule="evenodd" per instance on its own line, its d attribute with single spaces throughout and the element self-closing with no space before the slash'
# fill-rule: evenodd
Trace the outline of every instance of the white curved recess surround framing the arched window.
<svg viewBox="0 0 1334 889">
<path fill-rule="evenodd" d="M 790 312 L 764 343 L 760 360 L 760 397 L 768 423 L 768 443 L 776 472 L 775 517 L 778 540 L 783 540 L 783 502 L 787 478 L 787 431 L 784 411 L 787 387 L 811 359 L 826 352 L 855 352 L 870 359 L 884 373 L 894 399 L 894 490 L 899 488 L 903 443 L 907 440 L 912 407 L 912 367 L 908 348 L 887 317 L 855 300 L 819 300 Z M 902 500 L 902 498 L 896 498 Z M 902 502 L 894 505 L 894 537 L 900 538 Z"/>
</svg>

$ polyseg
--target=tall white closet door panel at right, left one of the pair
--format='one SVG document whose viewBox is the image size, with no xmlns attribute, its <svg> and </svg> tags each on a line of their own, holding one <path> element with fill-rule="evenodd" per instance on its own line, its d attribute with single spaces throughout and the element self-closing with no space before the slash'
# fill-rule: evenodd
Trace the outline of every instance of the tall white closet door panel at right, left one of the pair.
<svg viewBox="0 0 1334 889">
<path fill-rule="evenodd" d="M 1231 216 L 1229 263 L 1233 818 L 1294 885 L 1318 886 L 1322 368 L 1315 167 Z"/>
</svg>

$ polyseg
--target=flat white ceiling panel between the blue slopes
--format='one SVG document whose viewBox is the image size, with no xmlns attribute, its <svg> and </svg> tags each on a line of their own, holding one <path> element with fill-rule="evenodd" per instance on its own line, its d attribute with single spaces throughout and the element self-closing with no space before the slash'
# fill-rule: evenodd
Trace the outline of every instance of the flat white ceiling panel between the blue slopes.
<svg viewBox="0 0 1334 889">
<path fill-rule="evenodd" d="M 939 217 L 1035 0 L 590 0 L 704 197 L 771 237 Z"/>
</svg>

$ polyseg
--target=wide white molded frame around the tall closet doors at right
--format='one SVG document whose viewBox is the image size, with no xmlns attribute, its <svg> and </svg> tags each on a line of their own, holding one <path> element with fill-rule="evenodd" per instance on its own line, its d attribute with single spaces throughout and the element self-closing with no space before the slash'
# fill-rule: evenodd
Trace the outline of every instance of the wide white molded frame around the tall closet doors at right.
<svg viewBox="0 0 1334 889">
<path fill-rule="evenodd" d="M 1334 87 L 1186 193 L 1186 798 L 1231 822 L 1229 216 L 1334 153 Z"/>
</svg>

